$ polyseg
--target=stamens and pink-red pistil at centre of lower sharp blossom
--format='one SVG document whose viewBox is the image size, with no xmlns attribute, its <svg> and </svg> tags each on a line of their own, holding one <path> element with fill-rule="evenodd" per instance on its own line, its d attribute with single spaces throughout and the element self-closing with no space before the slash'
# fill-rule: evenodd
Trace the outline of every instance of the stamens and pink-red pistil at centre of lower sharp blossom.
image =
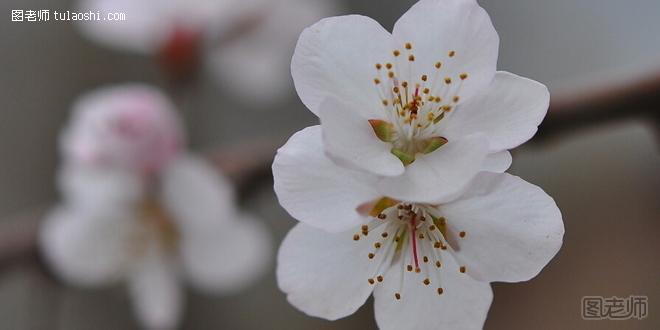
<svg viewBox="0 0 660 330">
<path fill-rule="evenodd" d="M 367 213 L 372 218 L 353 235 L 357 243 L 373 242 L 372 252 L 367 255 L 373 262 L 373 277 L 367 279 L 370 285 L 383 282 L 383 274 L 390 266 L 400 264 L 401 283 L 394 295 L 396 300 L 402 298 L 406 276 L 418 277 L 419 285 L 433 288 L 438 295 L 444 293 L 440 285 L 443 254 L 458 251 L 459 240 L 465 239 L 467 233 L 450 228 L 439 206 L 383 197 L 361 205 L 358 212 Z M 367 240 L 372 233 L 377 235 L 376 238 Z M 465 266 L 459 267 L 458 271 L 465 273 Z"/>
</svg>

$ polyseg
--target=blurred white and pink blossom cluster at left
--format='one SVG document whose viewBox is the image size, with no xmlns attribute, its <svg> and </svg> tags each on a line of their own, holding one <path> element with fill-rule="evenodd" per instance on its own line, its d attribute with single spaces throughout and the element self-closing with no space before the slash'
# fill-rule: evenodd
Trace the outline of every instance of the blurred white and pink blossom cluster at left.
<svg viewBox="0 0 660 330">
<path fill-rule="evenodd" d="M 63 202 L 47 217 L 41 244 L 67 282 L 125 281 L 149 328 L 171 328 L 184 281 L 229 293 L 261 275 L 270 237 L 235 207 L 230 184 L 183 151 L 180 122 L 159 91 L 101 89 L 80 99 L 62 135 Z"/>
</svg>

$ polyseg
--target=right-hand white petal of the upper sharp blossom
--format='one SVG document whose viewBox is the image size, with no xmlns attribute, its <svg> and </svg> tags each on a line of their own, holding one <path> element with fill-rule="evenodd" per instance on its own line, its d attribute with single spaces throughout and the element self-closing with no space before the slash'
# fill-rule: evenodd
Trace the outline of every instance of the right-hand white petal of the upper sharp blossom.
<svg viewBox="0 0 660 330">
<path fill-rule="evenodd" d="M 449 139 L 483 133 L 490 150 L 512 149 L 534 136 L 549 102 L 543 84 L 498 72 L 484 94 L 458 106 L 444 133 Z"/>
</svg>

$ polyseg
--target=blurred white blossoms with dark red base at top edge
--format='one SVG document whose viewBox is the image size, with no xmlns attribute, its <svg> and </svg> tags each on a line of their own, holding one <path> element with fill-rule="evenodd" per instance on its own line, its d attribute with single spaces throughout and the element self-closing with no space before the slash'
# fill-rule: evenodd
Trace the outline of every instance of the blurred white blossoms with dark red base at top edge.
<svg viewBox="0 0 660 330">
<path fill-rule="evenodd" d="M 126 13 L 125 21 L 83 21 L 108 46 L 155 54 L 186 69 L 204 52 L 224 88 L 248 102 L 290 90 L 289 61 L 306 26 L 336 13 L 332 0 L 81 0 L 80 11 Z"/>
</svg>

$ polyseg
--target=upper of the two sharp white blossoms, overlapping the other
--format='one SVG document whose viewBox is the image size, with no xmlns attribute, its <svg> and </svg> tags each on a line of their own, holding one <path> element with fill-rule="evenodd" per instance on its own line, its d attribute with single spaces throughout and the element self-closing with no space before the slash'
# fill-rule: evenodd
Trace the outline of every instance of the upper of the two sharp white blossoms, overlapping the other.
<svg viewBox="0 0 660 330">
<path fill-rule="evenodd" d="M 335 162 L 380 175 L 391 197 L 438 202 L 505 171 L 547 111 L 544 85 L 496 71 L 498 46 L 475 0 L 421 0 L 391 34 L 364 16 L 321 20 L 291 71 Z"/>
</svg>

